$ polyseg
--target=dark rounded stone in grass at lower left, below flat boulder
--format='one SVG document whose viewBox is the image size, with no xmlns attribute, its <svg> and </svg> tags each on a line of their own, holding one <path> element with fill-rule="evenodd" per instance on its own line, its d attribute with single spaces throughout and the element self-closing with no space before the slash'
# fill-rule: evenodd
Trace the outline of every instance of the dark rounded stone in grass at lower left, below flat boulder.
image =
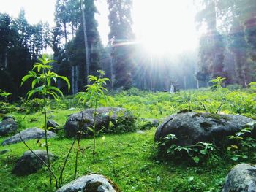
<svg viewBox="0 0 256 192">
<path fill-rule="evenodd" d="M 47 161 L 47 153 L 45 150 L 33 150 L 35 154 L 37 154 L 40 158 L 42 158 L 45 163 Z M 53 161 L 54 155 L 49 153 L 50 161 Z M 18 176 L 23 176 L 31 173 L 37 172 L 42 168 L 44 164 L 42 161 L 37 158 L 30 150 L 23 153 L 18 162 L 15 164 L 15 167 L 12 169 L 12 174 L 16 174 Z"/>
</svg>

